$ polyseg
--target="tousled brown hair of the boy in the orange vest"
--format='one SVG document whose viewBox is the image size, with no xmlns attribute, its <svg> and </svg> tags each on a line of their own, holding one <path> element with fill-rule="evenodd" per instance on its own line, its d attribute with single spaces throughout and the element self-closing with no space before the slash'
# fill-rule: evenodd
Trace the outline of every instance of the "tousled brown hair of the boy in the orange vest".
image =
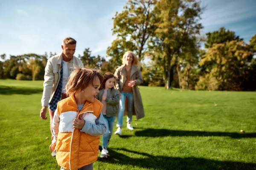
<svg viewBox="0 0 256 170">
<path fill-rule="evenodd" d="M 93 80 L 97 77 L 100 83 L 102 83 L 104 77 L 100 70 L 92 68 L 84 68 L 84 66 L 75 67 L 76 70 L 72 71 L 66 85 L 67 96 L 72 96 L 76 91 L 87 88 L 89 85 L 93 85 Z"/>
</svg>

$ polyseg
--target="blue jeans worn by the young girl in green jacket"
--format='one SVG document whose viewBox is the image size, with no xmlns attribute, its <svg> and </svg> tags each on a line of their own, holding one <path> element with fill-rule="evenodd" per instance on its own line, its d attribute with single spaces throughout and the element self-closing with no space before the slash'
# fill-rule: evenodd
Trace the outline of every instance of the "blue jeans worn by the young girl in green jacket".
<svg viewBox="0 0 256 170">
<path fill-rule="evenodd" d="M 105 120 L 107 129 L 106 132 L 102 135 L 102 147 L 108 147 L 108 142 L 113 133 L 113 127 L 115 125 L 116 116 L 107 117 L 106 115 L 103 115 L 103 118 Z"/>
</svg>

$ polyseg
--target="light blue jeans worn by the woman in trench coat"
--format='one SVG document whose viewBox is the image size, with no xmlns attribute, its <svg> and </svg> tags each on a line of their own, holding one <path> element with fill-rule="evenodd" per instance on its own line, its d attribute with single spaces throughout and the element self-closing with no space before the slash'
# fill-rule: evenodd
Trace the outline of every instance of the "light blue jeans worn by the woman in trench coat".
<svg viewBox="0 0 256 170">
<path fill-rule="evenodd" d="M 119 111 L 118 111 L 118 116 L 117 116 L 117 127 L 122 127 L 122 121 L 123 121 L 123 116 L 125 113 L 125 99 L 128 99 L 128 116 L 127 116 L 127 121 L 131 123 L 132 121 L 132 113 L 133 113 L 133 94 L 132 92 L 123 92 L 121 91 L 121 97 L 120 97 L 120 101 L 119 101 Z"/>
</svg>

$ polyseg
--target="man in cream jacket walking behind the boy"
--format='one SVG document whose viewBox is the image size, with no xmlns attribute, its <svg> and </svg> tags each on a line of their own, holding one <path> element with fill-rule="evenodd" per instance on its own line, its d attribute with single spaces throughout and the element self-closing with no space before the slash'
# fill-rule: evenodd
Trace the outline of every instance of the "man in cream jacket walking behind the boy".
<svg viewBox="0 0 256 170">
<path fill-rule="evenodd" d="M 64 38 L 62 45 L 62 53 L 57 54 L 47 61 L 44 74 L 44 92 L 41 99 L 42 109 L 40 111 L 41 119 L 47 119 L 46 112 L 49 108 L 50 130 L 52 133 L 52 118 L 57 108 L 57 103 L 61 99 L 67 98 L 65 95 L 65 86 L 67 79 L 74 66 L 82 65 L 82 61 L 73 56 L 76 51 L 76 40 L 71 37 Z M 52 136 L 53 139 L 53 136 Z M 56 155 L 56 150 L 52 152 L 52 156 Z"/>
</svg>

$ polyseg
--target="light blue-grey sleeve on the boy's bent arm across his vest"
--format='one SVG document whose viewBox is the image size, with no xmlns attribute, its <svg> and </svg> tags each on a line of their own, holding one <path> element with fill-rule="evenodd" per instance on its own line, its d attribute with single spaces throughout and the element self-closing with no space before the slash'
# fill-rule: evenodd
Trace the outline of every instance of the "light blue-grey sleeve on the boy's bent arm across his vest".
<svg viewBox="0 0 256 170">
<path fill-rule="evenodd" d="M 100 136 L 106 132 L 105 120 L 102 113 L 99 114 L 99 117 L 95 120 L 96 124 L 86 122 L 84 127 L 80 130 L 81 132 L 87 133 L 91 136 Z"/>
</svg>

